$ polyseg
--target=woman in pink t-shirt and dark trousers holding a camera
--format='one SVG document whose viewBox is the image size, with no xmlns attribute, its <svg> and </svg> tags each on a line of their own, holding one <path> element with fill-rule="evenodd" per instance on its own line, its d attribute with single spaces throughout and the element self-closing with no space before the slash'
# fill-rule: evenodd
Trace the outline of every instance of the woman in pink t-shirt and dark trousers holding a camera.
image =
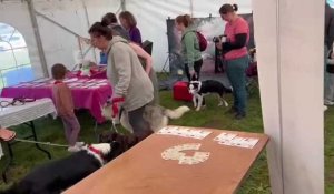
<svg viewBox="0 0 334 194">
<path fill-rule="evenodd" d="M 249 40 L 249 27 L 246 20 L 239 17 L 236 11 L 237 4 L 223 4 L 219 9 L 220 17 L 226 21 L 225 32 L 226 40 L 216 43 L 222 50 L 226 60 L 226 73 L 233 86 L 234 105 L 232 113 L 235 119 L 240 120 L 246 116 L 246 69 L 249 58 L 247 43 Z"/>
</svg>

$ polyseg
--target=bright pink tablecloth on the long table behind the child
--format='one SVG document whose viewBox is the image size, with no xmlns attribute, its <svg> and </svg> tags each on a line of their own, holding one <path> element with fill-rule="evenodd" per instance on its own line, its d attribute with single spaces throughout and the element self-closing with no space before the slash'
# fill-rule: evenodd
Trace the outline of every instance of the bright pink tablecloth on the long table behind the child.
<svg viewBox="0 0 334 194">
<path fill-rule="evenodd" d="M 106 79 L 69 79 L 76 109 L 88 109 L 98 123 L 105 121 L 100 105 L 112 94 L 112 89 Z M 52 99 L 52 81 L 32 81 L 3 88 L 1 98 L 50 98 Z"/>
</svg>

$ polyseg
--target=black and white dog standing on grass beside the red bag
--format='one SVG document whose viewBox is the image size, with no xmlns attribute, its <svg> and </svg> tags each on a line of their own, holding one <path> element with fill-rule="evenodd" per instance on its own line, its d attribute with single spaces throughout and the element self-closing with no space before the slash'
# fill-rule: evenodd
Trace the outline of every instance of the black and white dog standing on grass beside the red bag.
<svg viewBox="0 0 334 194">
<path fill-rule="evenodd" d="M 232 92 L 232 88 L 228 89 L 216 80 L 190 81 L 188 90 L 189 93 L 193 94 L 193 102 L 196 111 L 200 110 L 202 105 L 204 105 L 204 96 L 209 93 L 217 93 L 219 95 L 219 106 L 223 105 L 223 103 L 225 106 L 228 106 L 228 103 L 223 99 L 223 95 Z"/>
</svg>

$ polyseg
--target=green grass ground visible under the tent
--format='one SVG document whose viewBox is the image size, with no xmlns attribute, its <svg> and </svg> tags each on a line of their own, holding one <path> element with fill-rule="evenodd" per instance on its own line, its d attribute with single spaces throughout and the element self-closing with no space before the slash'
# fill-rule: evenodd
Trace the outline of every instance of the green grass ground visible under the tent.
<svg viewBox="0 0 334 194">
<path fill-rule="evenodd" d="M 232 96 L 227 96 L 227 101 L 232 102 Z M 160 92 L 161 105 L 166 108 L 177 108 L 186 102 L 174 101 L 170 91 Z M 258 92 L 254 92 L 249 96 L 247 118 L 242 121 L 236 121 L 230 114 L 225 113 L 226 108 L 217 106 L 218 100 L 216 96 L 207 98 L 207 108 L 200 112 L 194 110 L 185 114 L 179 120 L 174 120 L 170 124 L 186 125 L 186 126 L 205 126 L 214 129 L 246 131 L 246 132 L 263 132 L 261 102 Z M 191 106 L 191 103 L 187 102 Z M 80 139 L 86 142 L 96 142 L 94 134 L 94 119 L 87 111 L 78 112 L 78 118 L 81 124 Z M 334 109 L 326 112 L 325 120 L 325 177 L 326 177 L 326 193 L 334 193 Z M 35 122 L 37 133 L 40 141 L 52 143 L 66 143 L 62 124 L 59 120 L 50 118 L 39 119 Z M 27 126 L 20 125 L 14 129 L 19 135 L 23 135 Z M 98 126 L 99 131 L 109 130 L 110 123 L 101 124 Z M 62 157 L 69 154 L 63 147 L 47 147 L 53 159 Z M 14 162 L 8 173 L 9 185 L 20 180 L 29 170 L 36 165 L 47 162 L 47 156 L 40 151 L 35 149 L 33 144 L 18 143 L 13 146 Z M 4 157 L 6 159 L 6 157 Z M 0 161 L 0 166 L 4 164 L 4 160 Z M 222 164 L 224 165 L 224 164 Z M 1 171 L 0 170 L 0 171 Z M 0 190 L 7 187 L 2 180 L 0 181 Z M 266 162 L 265 152 L 263 152 L 253 165 L 247 178 L 240 187 L 239 194 L 267 194 L 269 192 L 268 167 Z"/>
</svg>

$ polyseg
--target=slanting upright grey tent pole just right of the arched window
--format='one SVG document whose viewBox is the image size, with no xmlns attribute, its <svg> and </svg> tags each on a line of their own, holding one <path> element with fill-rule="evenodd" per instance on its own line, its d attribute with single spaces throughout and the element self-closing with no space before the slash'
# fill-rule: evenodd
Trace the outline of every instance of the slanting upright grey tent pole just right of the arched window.
<svg viewBox="0 0 334 194">
<path fill-rule="evenodd" d="M 35 33 L 36 42 L 37 42 L 37 49 L 38 49 L 38 53 L 39 53 L 43 75 L 49 76 L 47 59 L 46 59 L 42 41 L 41 41 L 41 38 L 40 38 L 40 32 L 39 32 L 39 28 L 38 28 L 37 18 L 36 18 L 36 14 L 35 14 L 33 2 L 32 2 L 32 0 L 27 0 L 27 3 L 28 3 L 28 8 L 29 8 L 29 14 L 30 14 L 31 24 L 32 24 L 32 28 L 33 28 L 33 33 Z"/>
</svg>

